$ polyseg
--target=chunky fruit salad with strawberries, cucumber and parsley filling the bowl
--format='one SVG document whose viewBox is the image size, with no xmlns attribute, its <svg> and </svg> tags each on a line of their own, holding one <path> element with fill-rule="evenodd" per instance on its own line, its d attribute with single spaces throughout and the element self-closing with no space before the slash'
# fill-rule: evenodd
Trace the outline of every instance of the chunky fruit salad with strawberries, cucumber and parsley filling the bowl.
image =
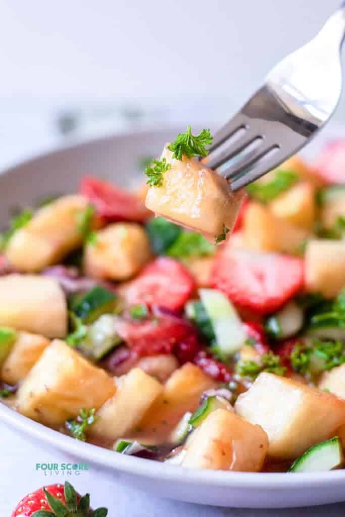
<svg viewBox="0 0 345 517">
<path fill-rule="evenodd" d="M 110 454 L 344 466 L 345 141 L 232 194 L 190 127 L 145 188 L 85 177 L 0 240 L 0 400 Z"/>
</svg>

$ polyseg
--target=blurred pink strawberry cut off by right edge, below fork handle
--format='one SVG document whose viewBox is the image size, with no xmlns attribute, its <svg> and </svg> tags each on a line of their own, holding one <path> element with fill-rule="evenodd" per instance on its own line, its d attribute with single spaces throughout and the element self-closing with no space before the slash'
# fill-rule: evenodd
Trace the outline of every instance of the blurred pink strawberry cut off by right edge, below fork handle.
<svg viewBox="0 0 345 517">
<path fill-rule="evenodd" d="M 329 143 L 313 163 L 313 168 L 327 184 L 345 185 L 345 139 Z"/>
</svg>

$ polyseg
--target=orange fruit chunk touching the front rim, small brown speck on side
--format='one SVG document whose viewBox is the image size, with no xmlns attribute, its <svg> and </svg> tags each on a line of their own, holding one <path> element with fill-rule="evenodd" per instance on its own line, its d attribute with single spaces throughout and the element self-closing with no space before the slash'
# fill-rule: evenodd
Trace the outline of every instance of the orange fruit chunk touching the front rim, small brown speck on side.
<svg viewBox="0 0 345 517">
<path fill-rule="evenodd" d="M 191 435 L 181 466 L 259 472 L 267 450 L 268 438 L 260 425 L 226 409 L 216 409 Z"/>
</svg>

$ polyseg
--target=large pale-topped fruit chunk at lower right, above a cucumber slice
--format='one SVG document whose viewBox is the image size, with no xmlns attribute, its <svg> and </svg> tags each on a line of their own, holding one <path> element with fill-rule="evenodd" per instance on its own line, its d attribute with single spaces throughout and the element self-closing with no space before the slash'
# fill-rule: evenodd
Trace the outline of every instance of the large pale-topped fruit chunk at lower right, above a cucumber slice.
<svg viewBox="0 0 345 517">
<path fill-rule="evenodd" d="M 235 413 L 261 425 L 268 455 L 291 460 L 334 436 L 345 422 L 345 401 L 272 373 L 261 373 L 235 403 Z"/>
</svg>

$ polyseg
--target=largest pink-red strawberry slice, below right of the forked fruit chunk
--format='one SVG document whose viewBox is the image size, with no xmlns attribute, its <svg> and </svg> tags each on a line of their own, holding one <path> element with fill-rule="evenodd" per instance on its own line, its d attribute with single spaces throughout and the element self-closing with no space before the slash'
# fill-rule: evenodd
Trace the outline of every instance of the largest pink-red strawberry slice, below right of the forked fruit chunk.
<svg viewBox="0 0 345 517">
<path fill-rule="evenodd" d="M 274 312 L 303 286 L 304 264 L 299 258 L 225 248 L 214 264 L 213 285 L 244 309 Z"/>
</svg>

